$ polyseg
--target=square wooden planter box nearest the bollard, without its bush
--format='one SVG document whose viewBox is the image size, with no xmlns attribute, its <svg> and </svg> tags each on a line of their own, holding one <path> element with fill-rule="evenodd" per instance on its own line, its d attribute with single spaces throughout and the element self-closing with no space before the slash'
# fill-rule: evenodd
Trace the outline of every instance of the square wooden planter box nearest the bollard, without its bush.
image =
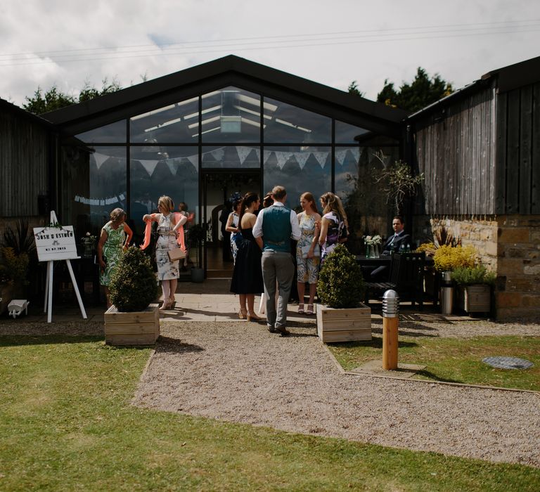
<svg viewBox="0 0 540 492">
<path fill-rule="evenodd" d="M 360 304 L 352 309 L 317 306 L 317 335 L 323 342 L 371 340 L 371 308 Z"/>
</svg>

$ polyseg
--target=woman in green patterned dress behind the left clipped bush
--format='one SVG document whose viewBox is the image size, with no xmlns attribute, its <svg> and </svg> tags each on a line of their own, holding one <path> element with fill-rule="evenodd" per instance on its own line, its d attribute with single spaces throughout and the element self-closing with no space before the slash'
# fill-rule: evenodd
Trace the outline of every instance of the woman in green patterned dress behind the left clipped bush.
<svg viewBox="0 0 540 492">
<path fill-rule="evenodd" d="M 133 232 L 125 222 L 126 212 L 118 208 L 110 212 L 110 221 L 101 228 L 98 242 L 99 283 L 105 289 L 110 307 L 109 284 L 122 253 L 127 250 Z"/>
</svg>

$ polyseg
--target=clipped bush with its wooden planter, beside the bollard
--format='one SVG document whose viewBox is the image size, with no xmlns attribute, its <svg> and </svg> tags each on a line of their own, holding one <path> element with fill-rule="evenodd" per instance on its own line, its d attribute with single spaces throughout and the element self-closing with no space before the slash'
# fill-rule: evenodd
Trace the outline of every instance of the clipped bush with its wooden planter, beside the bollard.
<svg viewBox="0 0 540 492">
<path fill-rule="evenodd" d="M 317 334 L 323 342 L 371 340 L 371 309 L 361 303 L 364 280 L 354 254 L 338 245 L 324 260 L 317 294 Z"/>
</svg>

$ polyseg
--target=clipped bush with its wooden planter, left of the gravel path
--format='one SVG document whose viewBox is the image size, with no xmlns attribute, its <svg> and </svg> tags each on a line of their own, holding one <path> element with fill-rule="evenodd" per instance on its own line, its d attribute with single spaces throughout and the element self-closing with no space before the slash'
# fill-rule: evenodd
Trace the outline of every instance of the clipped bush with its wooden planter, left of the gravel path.
<svg viewBox="0 0 540 492">
<path fill-rule="evenodd" d="M 123 255 L 109 285 L 113 306 L 105 311 L 105 343 L 151 345 L 160 335 L 159 295 L 150 259 L 138 247 Z"/>
</svg>

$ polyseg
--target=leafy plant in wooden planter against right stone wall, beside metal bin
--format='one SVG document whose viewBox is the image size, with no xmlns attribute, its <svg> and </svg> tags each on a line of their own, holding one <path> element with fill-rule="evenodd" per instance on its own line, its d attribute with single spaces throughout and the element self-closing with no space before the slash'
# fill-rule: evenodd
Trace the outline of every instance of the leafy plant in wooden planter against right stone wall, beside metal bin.
<svg viewBox="0 0 540 492">
<path fill-rule="evenodd" d="M 496 273 L 485 266 L 464 266 L 452 272 L 452 280 L 458 286 L 458 305 L 468 313 L 491 311 L 491 287 Z"/>
</svg>

